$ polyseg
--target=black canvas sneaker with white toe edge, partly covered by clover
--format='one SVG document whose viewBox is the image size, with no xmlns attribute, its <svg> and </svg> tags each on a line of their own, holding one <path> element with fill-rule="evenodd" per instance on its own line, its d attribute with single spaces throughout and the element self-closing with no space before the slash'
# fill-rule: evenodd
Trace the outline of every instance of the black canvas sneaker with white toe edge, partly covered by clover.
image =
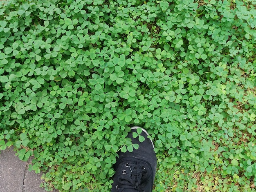
<svg viewBox="0 0 256 192">
<path fill-rule="evenodd" d="M 148 132 L 142 129 L 141 136 L 145 141 L 139 142 L 138 137 L 133 138 L 132 132 L 141 127 L 131 127 L 128 137 L 132 144 L 139 144 L 138 150 L 133 152 L 118 152 L 119 158 L 114 165 L 116 171 L 113 178 L 111 192 L 152 192 L 157 168 L 157 157 L 153 142 L 147 137 Z"/>
</svg>

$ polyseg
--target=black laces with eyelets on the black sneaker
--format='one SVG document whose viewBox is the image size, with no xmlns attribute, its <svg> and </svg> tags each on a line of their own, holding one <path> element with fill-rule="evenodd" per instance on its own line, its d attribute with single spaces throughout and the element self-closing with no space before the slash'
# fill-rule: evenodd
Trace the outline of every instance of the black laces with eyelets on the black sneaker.
<svg viewBox="0 0 256 192">
<path fill-rule="evenodd" d="M 123 170 L 123 175 L 117 181 L 120 185 L 117 188 L 122 189 L 135 189 L 139 192 L 145 192 L 143 187 L 148 182 L 148 172 L 145 167 L 135 163 L 126 163 L 127 170 Z"/>
</svg>

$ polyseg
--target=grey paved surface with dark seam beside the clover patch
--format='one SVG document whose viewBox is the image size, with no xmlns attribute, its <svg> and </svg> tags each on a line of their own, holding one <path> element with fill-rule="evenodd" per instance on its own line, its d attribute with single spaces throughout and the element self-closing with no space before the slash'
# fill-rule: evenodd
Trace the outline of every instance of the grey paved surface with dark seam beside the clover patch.
<svg viewBox="0 0 256 192">
<path fill-rule="evenodd" d="M 40 188 L 42 174 L 28 171 L 29 161 L 20 161 L 13 147 L 0 152 L 0 192 L 46 192 Z M 56 192 L 57 190 L 55 190 Z"/>
</svg>

